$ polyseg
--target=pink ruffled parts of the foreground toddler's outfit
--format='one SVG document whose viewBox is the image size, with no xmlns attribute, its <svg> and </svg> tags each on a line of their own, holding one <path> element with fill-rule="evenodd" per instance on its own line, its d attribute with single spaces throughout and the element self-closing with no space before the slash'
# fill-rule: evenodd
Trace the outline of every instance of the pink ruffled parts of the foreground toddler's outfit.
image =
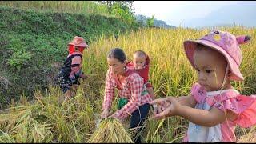
<svg viewBox="0 0 256 144">
<path fill-rule="evenodd" d="M 190 94 L 197 102 L 197 105 L 206 102 L 210 108 L 216 107 L 223 112 L 231 110 L 238 114 L 236 120 L 228 120 L 220 124 L 220 142 L 236 142 L 234 135 L 236 125 L 250 127 L 256 124 L 256 95 L 245 96 L 239 94 L 237 90 L 206 92 L 203 86 L 198 83 L 192 86 Z M 186 134 L 183 142 L 189 142 L 189 139 L 188 134 Z"/>
</svg>

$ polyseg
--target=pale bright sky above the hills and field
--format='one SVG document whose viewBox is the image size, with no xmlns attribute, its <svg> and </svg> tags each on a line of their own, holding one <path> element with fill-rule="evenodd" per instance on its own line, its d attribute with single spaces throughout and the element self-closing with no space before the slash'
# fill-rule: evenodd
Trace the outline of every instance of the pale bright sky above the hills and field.
<svg viewBox="0 0 256 144">
<path fill-rule="evenodd" d="M 239 1 L 134 1 L 134 14 L 143 14 L 179 26 L 186 19 L 203 18 L 213 10 Z"/>
</svg>

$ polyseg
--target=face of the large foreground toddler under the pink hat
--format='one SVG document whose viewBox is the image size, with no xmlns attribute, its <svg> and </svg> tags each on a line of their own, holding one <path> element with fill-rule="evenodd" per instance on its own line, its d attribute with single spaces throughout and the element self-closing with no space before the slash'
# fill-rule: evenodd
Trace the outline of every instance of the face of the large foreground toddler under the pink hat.
<svg viewBox="0 0 256 144">
<path fill-rule="evenodd" d="M 194 52 L 198 83 L 207 91 L 221 90 L 226 71 L 226 58 L 216 50 L 203 48 Z"/>
</svg>

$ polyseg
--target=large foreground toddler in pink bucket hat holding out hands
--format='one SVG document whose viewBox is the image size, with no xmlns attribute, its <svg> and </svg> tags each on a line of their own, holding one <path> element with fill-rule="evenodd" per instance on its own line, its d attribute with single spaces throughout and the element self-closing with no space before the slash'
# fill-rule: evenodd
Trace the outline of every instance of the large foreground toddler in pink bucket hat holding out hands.
<svg viewBox="0 0 256 144">
<path fill-rule="evenodd" d="M 230 81 L 242 81 L 239 45 L 249 42 L 246 35 L 234 36 L 214 30 L 198 40 L 184 42 L 186 57 L 198 72 L 189 96 L 156 99 L 154 118 L 178 115 L 189 120 L 183 142 L 236 142 L 235 126 L 256 124 L 256 95 L 245 96 Z"/>
</svg>

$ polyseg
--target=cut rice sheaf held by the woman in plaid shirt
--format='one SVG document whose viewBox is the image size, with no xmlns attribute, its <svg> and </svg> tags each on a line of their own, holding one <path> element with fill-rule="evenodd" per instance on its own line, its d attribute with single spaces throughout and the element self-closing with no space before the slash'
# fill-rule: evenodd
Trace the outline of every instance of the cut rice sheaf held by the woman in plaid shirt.
<svg viewBox="0 0 256 144">
<path fill-rule="evenodd" d="M 87 142 L 95 143 L 133 143 L 122 123 L 115 118 L 103 119 Z"/>
</svg>

